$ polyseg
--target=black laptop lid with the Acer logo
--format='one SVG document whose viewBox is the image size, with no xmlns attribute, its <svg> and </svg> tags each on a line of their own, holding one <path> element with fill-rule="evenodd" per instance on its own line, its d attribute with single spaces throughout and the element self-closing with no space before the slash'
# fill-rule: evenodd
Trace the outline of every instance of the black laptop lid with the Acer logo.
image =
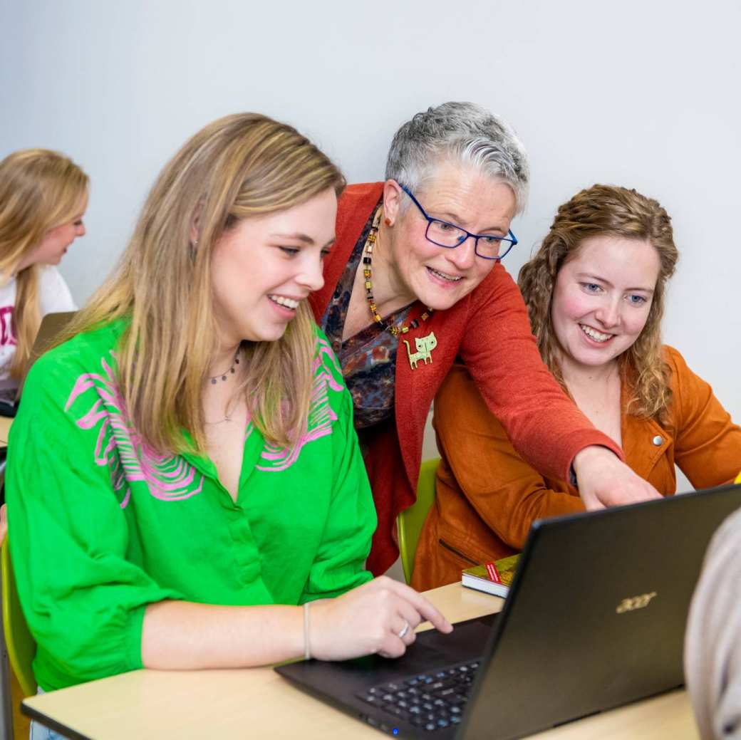
<svg viewBox="0 0 741 740">
<path fill-rule="evenodd" d="M 741 486 L 536 522 L 461 735 L 508 739 L 682 685 L 705 549 Z"/>
</svg>

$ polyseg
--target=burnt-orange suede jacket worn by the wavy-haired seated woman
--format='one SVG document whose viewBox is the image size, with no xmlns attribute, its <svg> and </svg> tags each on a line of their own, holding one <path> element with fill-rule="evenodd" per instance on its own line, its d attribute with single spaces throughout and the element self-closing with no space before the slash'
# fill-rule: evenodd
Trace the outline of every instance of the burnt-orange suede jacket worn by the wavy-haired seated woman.
<svg viewBox="0 0 741 740">
<path fill-rule="evenodd" d="M 665 426 L 622 413 L 625 461 L 664 496 L 676 463 L 696 488 L 732 481 L 741 467 L 741 428 L 682 356 L 664 347 L 674 397 Z M 623 392 L 623 409 L 626 394 Z M 461 570 L 522 550 L 535 519 L 583 511 L 562 478 L 543 477 L 512 447 L 460 364 L 440 387 L 433 419 L 442 463 L 435 505 L 416 550 L 412 585 L 459 581 Z"/>
</svg>

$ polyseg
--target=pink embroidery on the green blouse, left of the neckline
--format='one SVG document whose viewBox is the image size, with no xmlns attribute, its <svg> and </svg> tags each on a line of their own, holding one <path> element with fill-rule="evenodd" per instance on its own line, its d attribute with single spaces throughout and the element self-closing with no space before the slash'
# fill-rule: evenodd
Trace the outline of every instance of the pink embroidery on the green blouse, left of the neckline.
<svg viewBox="0 0 741 740">
<path fill-rule="evenodd" d="M 113 352 L 110 356 L 115 362 Z M 192 465 L 180 456 L 157 455 L 128 423 L 113 366 L 105 357 L 101 359 L 101 366 L 103 372 L 100 374 L 79 376 L 64 410 L 69 411 L 80 396 L 93 390 L 95 401 L 76 423 L 81 429 L 94 429 L 100 424 L 95 461 L 110 469 L 113 490 L 121 490 L 124 481 L 128 484 L 143 481 L 150 494 L 162 501 L 182 501 L 201 493 L 203 476 L 197 477 Z M 130 496 L 129 489 L 121 503 L 122 509 L 127 506 Z"/>
</svg>

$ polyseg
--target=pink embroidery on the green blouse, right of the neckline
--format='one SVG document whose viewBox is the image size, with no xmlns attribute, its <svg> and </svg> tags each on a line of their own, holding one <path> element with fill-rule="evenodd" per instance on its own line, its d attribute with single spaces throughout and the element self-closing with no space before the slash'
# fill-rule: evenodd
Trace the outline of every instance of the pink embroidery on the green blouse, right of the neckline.
<svg viewBox="0 0 741 740">
<path fill-rule="evenodd" d="M 305 444 L 332 433 L 332 424 L 337 421 L 337 415 L 329 404 L 328 388 L 337 393 L 342 393 L 345 387 L 335 377 L 336 374 L 336 376 L 342 378 L 342 370 L 326 339 L 319 337 L 316 339 L 316 357 L 313 361 L 312 370 L 314 373 L 314 387 L 311 393 L 311 407 L 305 433 L 293 447 L 275 447 L 266 443 L 265 450 L 262 451 L 260 456 L 264 463 L 256 465 L 257 470 L 273 473 L 285 470 L 296 462 Z"/>
</svg>

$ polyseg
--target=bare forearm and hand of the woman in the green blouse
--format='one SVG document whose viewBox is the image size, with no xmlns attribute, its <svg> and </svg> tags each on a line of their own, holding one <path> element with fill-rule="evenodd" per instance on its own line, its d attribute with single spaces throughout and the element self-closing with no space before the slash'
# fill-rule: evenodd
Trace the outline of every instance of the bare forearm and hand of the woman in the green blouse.
<svg viewBox="0 0 741 740">
<path fill-rule="evenodd" d="M 298 658 L 304 655 L 303 616 L 301 607 L 159 601 L 144 613 L 142 661 L 147 668 L 192 670 Z M 312 602 L 310 654 L 321 660 L 371 653 L 396 658 L 425 620 L 445 633 L 453 629 L 419 593 L 382 576 L 336 599 Z"/>
</svg>

